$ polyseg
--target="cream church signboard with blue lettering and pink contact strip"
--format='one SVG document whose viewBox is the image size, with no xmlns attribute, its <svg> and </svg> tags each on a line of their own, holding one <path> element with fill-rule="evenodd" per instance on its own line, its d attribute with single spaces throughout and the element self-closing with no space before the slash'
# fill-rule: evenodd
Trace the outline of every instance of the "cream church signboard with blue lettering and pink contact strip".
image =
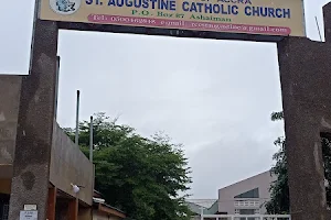
<svg viewBox="0 0 331 220">
<path fill-rule="evenodd" d="M 305 36 L 303 0 L 41 0 L 39 19 Z"/>
</svg>

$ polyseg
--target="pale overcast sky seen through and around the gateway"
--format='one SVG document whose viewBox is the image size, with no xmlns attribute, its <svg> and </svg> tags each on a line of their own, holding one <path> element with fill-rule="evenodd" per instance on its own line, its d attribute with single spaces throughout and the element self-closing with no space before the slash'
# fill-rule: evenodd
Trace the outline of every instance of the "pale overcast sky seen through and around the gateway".
<svg viewBox="0 0 331 220">
<path fill-rule="evenodd" d="M 0 73 L 26 74 L 34 0 L 3 1 Z M 306 0 L 308 36 L 319 40 L 321 7 Z M 143 135 L 164 131 L 183 143 L 193 170 L 192 198 L 265 172 L 282 134 L 276 45 L 237 41 L 62 31 L 58 122 L 104 111 Z"/>
</svg>

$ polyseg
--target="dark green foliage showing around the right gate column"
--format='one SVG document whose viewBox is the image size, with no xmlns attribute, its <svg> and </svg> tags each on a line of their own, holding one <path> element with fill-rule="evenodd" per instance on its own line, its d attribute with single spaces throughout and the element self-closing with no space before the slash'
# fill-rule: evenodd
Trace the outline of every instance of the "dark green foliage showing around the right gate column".
<svg viewBox="0 0 331 220">
<path fill-rule="evenodd" d="M 284 120 L 284 113 L 273 112 L 273 121 Z M 327 190 L 327 202 L 331 205 L 331 141 L 328 134 L 321 134 L 321 145 L 324 165 L 324 176 L 328 180 Z M 289 213 L 289 188 L 288 188 L 288 172 L 287 172 L 287 157 L 286 151 L 286 139 L 284 136 L 278 138 L 274 144 L 279 146 L 279 151 L 274 154 L 273 160 L 276 161 L 275 166 L 271 167 L 271 175 L 276 175 L 277 179 L 271 184 L 270 187 L 270 201 L 266 204 L 268 213 Z"/>
</svg>

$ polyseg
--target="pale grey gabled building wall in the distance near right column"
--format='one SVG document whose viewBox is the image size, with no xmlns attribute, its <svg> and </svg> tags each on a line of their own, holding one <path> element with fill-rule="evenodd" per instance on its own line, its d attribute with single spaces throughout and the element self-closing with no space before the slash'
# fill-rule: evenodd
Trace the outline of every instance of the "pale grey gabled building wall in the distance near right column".
<svg viewBox="0 0 331 220">
<path fill-rule="evenodd" d="M 234 197 L 246 193 L 254 188 L 259 188 L 259 199 L 247 199 L 247 200 L 257 200 L 258 206 L 245 207 L 248 209 L 259 209 L 259 206 L 265 204 L 270 199 L 270 184 L 276 180 L 275 176 L 270 176 L 270 172 L 265 172 L 263 174 L 253 176 L 248 179 L 242 180 L 234 185 L 227 186 L 218 190 L 218 212 L 227 212 L 228 215 L 235 213 L 235 200 L 246 200 L 246 199 L 235 199 Z M 244 208 L 244 207 L 241 207 Z M 265 206 L 261 206 L 260 213 L 265 213 Z"/>
</svg>

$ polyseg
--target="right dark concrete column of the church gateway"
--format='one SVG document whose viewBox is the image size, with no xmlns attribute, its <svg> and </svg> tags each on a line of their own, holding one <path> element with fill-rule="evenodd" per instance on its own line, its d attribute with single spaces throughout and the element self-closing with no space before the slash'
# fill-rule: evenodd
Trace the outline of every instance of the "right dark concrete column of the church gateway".
<svg viewBox="0 0 331 220">
<path fill-rule="evenodd" d="M 331 133 L 331 44 L 278 43 L 292 220 L 327 220 L 321 132 Z"/>
</svg>

